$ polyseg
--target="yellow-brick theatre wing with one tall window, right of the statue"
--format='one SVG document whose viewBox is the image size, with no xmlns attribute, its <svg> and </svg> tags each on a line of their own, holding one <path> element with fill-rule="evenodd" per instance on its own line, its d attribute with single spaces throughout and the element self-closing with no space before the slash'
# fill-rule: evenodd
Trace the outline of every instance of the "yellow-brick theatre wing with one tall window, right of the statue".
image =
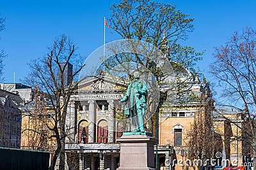
<svg viewBox="0 0 256 170">
<path fill-rule="evenodd" d="M 211 120 L 212 110 L 214 110 L 214 101 L 211 98 L 209 83 L 197 83 L 192 85 L 191 89 L 196 94 L 195 101 L 179 104 L 163 105 L 163 110 L 159 114 L 159 145 L 173 146 L 172 164 L 168 169 L 185 169 L 180 166 L 180 160 L 188 159 L 188 133 L 191 131 L 191 125 L 196 119 L 201 118 L 202 122 Z M 211 151 L 209 151 L 211 152 Z M 193 160 L 192 160 L 193 161 Z M 159 164 L 164 164 L 161 157 Z"/>
</svg>

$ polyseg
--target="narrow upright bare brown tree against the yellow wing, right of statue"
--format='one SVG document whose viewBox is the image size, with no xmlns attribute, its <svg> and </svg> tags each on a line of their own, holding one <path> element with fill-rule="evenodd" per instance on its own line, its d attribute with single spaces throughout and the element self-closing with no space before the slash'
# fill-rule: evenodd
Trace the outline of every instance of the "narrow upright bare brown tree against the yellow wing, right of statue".
<svg viewBox="0 0 256 170">
<path fill-rule="evenodd" d="M 207 97 L 196 97 L 198 110 L 195 113 L 194 121 L 191 123 L 191 129 L 188 130 L 187 140 L 185 146 L 188 148 L 186 155 L 189 160 L 202 160 L 202 163 L 210 163 L 214 157 L 214 148 L 218 141 L 214 138 L 213 124 L 212 124 L 212 110 L 214 105 L 212 100 Z M 191 164 L 193 169 L 200 169 L 201 164 Z"/>
</svg>

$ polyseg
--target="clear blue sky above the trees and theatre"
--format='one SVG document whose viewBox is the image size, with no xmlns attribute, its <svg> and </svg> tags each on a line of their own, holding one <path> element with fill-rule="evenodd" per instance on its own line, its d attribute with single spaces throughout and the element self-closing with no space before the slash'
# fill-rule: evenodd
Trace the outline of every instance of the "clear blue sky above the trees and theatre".
<svg viewBox="0 0 256 170">
<path fill-rule="evenodd" d="M 88 56 L 103 45 L 104 15 L 110 17 L 109 6 L 119 1 L 0 1 L 0 13 L 6 18 L 6 29 L 0 32 L 0 49 L 4 59 L 6 83 L 20 82 L 28 74 L 28 62 L 47 53 L 47 46 L 61 34 L 70 36 L 79 47 L 79 53 Z M 249 26 L 256 29 L 256 1 L 248 0 L 163 0 L 177 5 L 183 13 L 195 18 L 195 31 L 184 45 L 206 50 L 198 62 L 207 73 L 212 62 L 214 46 L 223 45 L 234 31 Z M 106 29 L 106 41 L 117 38 Z"/>
</svg>

